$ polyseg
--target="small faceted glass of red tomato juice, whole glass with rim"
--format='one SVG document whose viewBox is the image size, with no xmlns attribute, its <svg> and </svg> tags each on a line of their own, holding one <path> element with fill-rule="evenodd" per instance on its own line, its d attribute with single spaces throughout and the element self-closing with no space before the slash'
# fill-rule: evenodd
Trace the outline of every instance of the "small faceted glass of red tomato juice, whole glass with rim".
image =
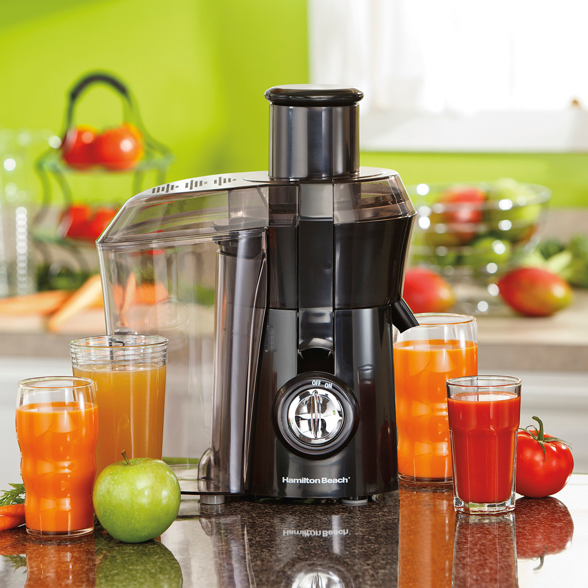
<svg viewBox="0 0 588 588">
<path fill-rule="evenodd" d="M 453 505 L 470 514 L 515 508 L 521 381 L 511 376 L 447 380 Z"/>
</svg>

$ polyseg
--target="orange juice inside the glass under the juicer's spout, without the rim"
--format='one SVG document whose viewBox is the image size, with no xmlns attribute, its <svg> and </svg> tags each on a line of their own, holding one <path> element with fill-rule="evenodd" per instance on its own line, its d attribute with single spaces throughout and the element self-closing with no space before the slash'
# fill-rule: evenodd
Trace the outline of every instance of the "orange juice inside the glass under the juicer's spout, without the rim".
<svg viewBox="0 0 588 588">
<path fill-rule="evenodd" d="M 450 480 L 445 382 L 477 374 L 477 344 L 441 339 L 396 343 L 394 372 L 399 475 Z"/>
</svg>

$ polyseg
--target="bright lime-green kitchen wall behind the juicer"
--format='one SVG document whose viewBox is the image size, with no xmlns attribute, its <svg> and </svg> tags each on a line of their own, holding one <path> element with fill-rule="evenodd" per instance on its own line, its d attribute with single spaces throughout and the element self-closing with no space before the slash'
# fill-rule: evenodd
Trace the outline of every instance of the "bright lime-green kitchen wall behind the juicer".
<svg viewBox="0 0 588 588">
<path fill-rule="evenodd" d="M 0 129 L 61 133 L 66 91 L 93 69 L 135 95 L 148 131 L 175 153 L 168 179 L 267 169 L 265 89 L 308 81 L 306 0 L 0 0 Z M 78 122 L 115 125 L 118 99 L 88 92 Z M 588 206 L 588 154 L 362 153 L 406 184 L 513 176 Z M 102 174 L 104 176 L 104 174 Z M 131 185 L 91 178 L 82 198 Z M 128 178 L 126 178 L 128 180 Z"/>
</svg>

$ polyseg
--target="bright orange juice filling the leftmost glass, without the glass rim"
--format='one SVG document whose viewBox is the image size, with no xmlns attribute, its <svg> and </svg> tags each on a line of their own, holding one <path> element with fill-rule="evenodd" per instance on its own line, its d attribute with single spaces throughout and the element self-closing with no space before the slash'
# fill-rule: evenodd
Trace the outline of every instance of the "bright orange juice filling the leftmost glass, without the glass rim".
<svg viewBox="0 0 588 588">
<path fill-rule="evenodd" d="M 98 410 L 47 402 L 16 409 L 29 529 L 44 533 L 91 529 Z"/>
</svg>

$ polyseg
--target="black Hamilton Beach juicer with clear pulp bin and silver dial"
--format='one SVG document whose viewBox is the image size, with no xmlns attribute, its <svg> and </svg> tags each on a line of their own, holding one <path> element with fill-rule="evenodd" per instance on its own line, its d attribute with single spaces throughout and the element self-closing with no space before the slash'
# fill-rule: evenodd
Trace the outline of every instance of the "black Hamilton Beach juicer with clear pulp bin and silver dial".
<svg viewBox="0 0 588 588">
<path fill-rule="evenodd" d="M 268 172 L 139 193 L 98 239 L 108 333 L 169 339 L 163 459 L 182 492 L 397 488 L 392 325 L 415 209 L 359 168 L 353 88 L 283 86 Z"/>
</svg>

